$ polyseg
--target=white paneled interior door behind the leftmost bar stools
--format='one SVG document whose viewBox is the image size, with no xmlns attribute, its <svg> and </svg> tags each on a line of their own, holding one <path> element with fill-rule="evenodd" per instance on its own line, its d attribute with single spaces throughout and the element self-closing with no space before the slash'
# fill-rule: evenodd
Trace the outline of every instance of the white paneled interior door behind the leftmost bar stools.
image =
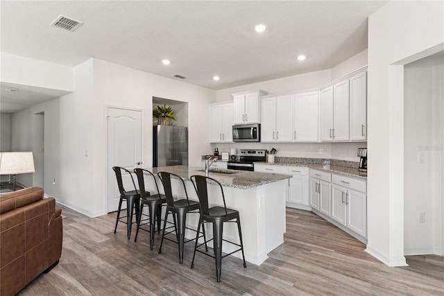
<svg viewBox="0 0 444 296">
<path fill-rule="evenodd" d="M 128 171 L 142 165 L 142 112 L 108 108 L 108 213 L 119 207 L 119 187 L 113 166 L 121 166 Z M 123 186 L 134 190 L 130 175 L 122 175 Z M 135 180 L 137 186 L 137 180 Z M 126 207 L 126 204 L 122 204 Z"/>
</svg>

